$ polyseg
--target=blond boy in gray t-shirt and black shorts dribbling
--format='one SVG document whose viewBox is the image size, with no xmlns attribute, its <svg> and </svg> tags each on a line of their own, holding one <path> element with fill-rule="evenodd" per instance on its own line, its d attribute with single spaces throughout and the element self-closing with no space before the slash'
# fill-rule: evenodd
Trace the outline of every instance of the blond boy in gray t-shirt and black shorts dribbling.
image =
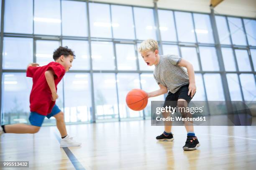
<svg viewBox="0 0 256 170">
<path fill-rule="evenodd" d="M 159 55 L 158 43 L 152 39 L 141 42 L 138 52 L 141 53 L 147 65 L 155 65 L 154 79 L 160 87 L 159 90 L 148 92 L 148 97 L 159 96 L 169 91 L 163 107 L 187 107 L 196 92 L 195 72 L 192 64 L 177 55 Z M 191 117 L 189 112 L 182 112 L 183 117 L 184 115 Z M 163 116 L 167 117 L 169 113 L 163 112 Z M 187 130 L 187 140 L 183 150 L 195 150 L 200 144 L 195 136 L 193 123 L 184 121 L 184 125 Z M 171 121 L 165 121 L 164 133 L 156 139 L 159 141 L 174 140 L 171 130 Z"/>
</svg>

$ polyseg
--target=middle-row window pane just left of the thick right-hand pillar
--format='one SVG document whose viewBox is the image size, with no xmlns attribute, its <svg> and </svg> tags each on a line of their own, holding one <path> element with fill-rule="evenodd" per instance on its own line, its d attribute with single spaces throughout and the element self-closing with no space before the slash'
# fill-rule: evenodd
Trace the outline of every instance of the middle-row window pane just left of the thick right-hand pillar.
<svg viewBox="0 0 256 170">
<path fill-rule="evenodd" d="M 203 71 L 218 71 L 219 63 L 215 47 L 199 47 Z"/>
</svg>

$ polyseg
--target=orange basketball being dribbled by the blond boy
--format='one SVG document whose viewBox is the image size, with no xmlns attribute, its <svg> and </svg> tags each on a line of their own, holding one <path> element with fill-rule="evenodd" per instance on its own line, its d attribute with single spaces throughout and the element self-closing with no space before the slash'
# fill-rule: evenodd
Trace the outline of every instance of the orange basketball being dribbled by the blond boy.
<svg viewBox="0 0 256 170">
<path fill-rule="evenodd" d="M 126 104 L 132 110 L 143 110 L 148 104 L 148 95 L 141 89 L 133 89 L 126 95 Z"/>
</svg>

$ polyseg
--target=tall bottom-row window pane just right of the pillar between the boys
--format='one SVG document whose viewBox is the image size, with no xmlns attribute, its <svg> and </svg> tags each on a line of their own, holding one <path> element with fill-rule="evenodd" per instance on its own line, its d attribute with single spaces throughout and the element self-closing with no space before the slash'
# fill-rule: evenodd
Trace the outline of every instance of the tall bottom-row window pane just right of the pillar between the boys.
<svg viewBox="0 0 256 170">
<path fill-rule="evenodd" d="M 96 119 L 117 119 L 118 101 L 115 74 L 94 73 L 93 83 Z"/>
</svg>

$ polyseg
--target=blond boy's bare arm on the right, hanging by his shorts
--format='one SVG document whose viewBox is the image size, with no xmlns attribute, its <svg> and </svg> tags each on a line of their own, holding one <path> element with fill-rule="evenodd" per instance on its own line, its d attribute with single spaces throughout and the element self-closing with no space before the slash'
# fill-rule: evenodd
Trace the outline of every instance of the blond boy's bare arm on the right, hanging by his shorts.
<svg viewBox="0 0 256 170">
<path fill-rule="evenodd" d="M 187 95 L 189 95 L 191 92 L 191 97 L 193 97 L 193 95 L 195 94 L 196 89 L 197 89 L 197 87 L 195 85 L 195 72 L 194 72 L 193 65 L 190 62 L 188 62 L 187 60 L 184 60 L 182 58 L 180 60 L 180 62 L 178 63 L 178 66 L 187 68 L 187 73 L 189 75 L 189 92 Z"/>
</svg>

